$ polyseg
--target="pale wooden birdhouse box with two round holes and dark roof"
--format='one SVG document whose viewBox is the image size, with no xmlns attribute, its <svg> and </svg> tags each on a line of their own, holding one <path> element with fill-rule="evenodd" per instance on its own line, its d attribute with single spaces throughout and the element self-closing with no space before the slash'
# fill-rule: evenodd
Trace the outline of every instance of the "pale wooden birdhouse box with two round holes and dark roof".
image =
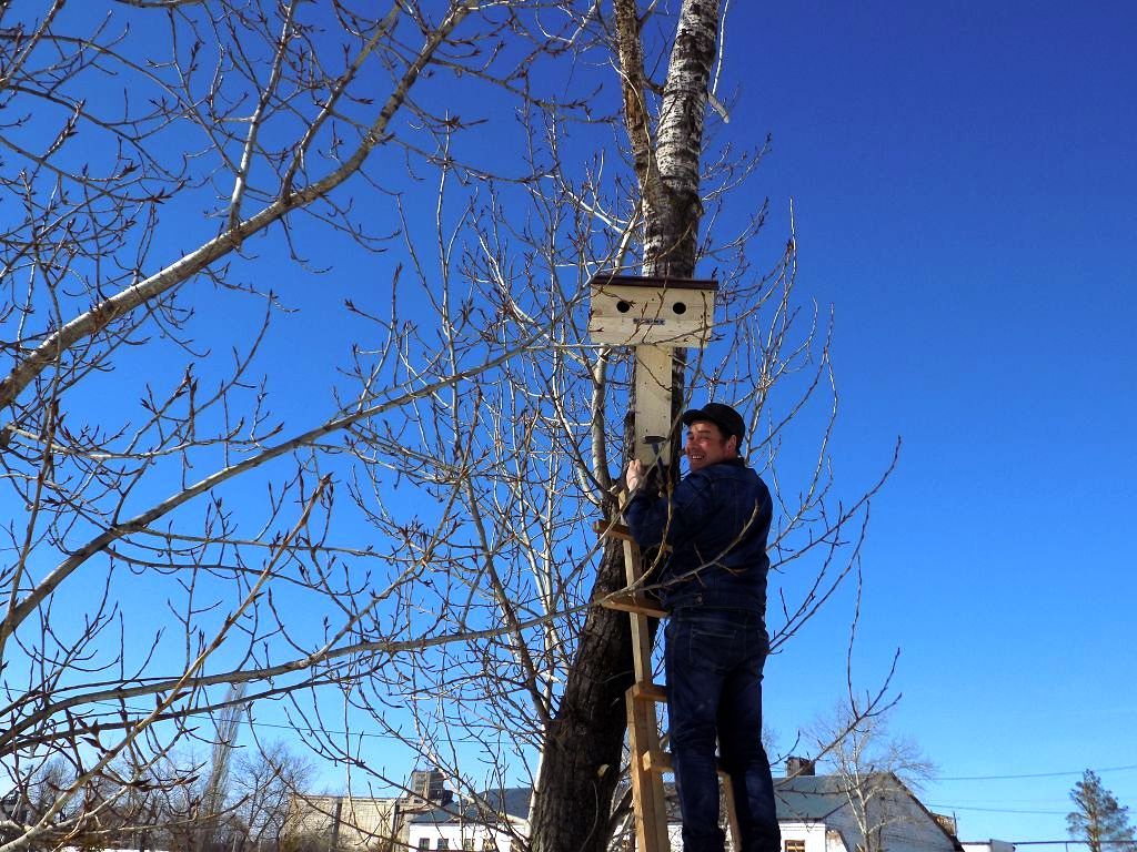
<svg viewBox="0 0 1137 852">
<path fill-rule="evenodd" d="M 714 325 L 715 281 L 598 273 L 589 282 L 588 334 L 619 346 L 706 346 Z"/>
</svg>

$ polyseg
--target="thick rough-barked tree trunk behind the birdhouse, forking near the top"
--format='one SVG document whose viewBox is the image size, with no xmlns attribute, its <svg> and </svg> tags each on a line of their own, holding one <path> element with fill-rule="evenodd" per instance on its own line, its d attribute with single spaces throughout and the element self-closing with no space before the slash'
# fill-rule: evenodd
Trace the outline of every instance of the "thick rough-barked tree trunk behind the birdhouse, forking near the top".
<svg viewBox="0 0 1137 852">
<path fill-rule="evenodd" d="M 699 159 L 707 84 L 714 61 L 717 0 L 684 0 L 653 144 L 634 0 L 615 0 L 616 41 L 644 209 L 647 275 L 694 277 L 702 203 Z M 677 352 L 681 352 L 677 350 Z M 677 358 L 673 407 L 682 402 L 684 361 Z M 629 444 L 632 445 L 632 444 Z M 672 442 L 678 446 L 678 442 Z M 677 469 L 673 465 L 672 469 Z M 594 598 L 624 586 L 623 553 L 605 548 Z M 533 803 L 534 852 L 601 852 L 609 840 L 612 797 L 626 729 L 624 692 L 632 684 L 628 616 L 596 608 L 546 737 Z"/>
</svg>

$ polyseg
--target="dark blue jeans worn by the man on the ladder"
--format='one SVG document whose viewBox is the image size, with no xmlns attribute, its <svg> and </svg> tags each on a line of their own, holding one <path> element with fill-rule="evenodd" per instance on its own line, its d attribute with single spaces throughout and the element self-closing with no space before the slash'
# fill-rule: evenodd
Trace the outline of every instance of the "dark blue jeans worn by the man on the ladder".
<svg viewBox="0 0 1137 852">
<path fill-rule="evenodd" d="M 779 852 L 770 760 L 762 747 L 762 668 L 770 650 L 757 612 L 684 608 L 665 628 L 671 753 L 683 852 L 723 852 L 719 775 L 730 772 L 741 849 Z"/>
</svg>

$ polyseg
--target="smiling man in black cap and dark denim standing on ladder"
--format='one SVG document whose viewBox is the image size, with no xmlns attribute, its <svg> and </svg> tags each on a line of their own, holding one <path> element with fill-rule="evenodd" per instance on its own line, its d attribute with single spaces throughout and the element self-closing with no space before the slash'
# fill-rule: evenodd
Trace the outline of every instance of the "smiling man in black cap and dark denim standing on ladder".
<svg viewBox="0 0 1137 852">
<path fill-rule="evenodd" d="M 667 611 L 664 666 L 672 766 L 683 852 L 723 852 L 715 740 L 730 774 L 741 852 L 781 844 L 770 760 L 762 747 L 770 491 L 739 454 L 746 424 L 730 406 L 687 411 L 690 473 L 670 496 L 638 491 L 644 466 L 628 468 L 624 518 L 641 548 L 670 545 L 658 576 Z"/>
</svg>

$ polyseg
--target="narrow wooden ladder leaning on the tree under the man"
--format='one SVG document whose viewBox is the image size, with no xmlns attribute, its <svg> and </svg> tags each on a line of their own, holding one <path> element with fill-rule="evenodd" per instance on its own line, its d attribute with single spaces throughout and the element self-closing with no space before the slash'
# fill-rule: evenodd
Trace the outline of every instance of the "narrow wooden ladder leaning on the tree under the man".
<svg viewBox="0 0 1137 852">
<path fill-rule="evenodd" d="M 639 545 L 631 531 L 622 524 L 597 524 L 600 535 L 616 538 L 624 549 L 624 573 L 628 588 L 600 601 L 608 609 L 628 612 L 632 628 L 632 666 L 636 683 L 624 693 L 628 711 L 628 745 L 631 754 L 629 775 L 632 786 L 632 813 L 636 819 L 636 847 L 638 852 L 670 852 L 667 835 L 667 802 L 663 790 L 663 775 L 670 772 L 671 754 L 659 742 L 656 704 L 666 702 L 666 690 L 652 679 L 652 630 L 649 619 L 663 618 L 659 603 L 642 591 L 644 565 Z M 723 803 L 730 825 L 733 847 L 739 849 L 738 817 L 730 778 L 723 779 Z"/>
</svg>

